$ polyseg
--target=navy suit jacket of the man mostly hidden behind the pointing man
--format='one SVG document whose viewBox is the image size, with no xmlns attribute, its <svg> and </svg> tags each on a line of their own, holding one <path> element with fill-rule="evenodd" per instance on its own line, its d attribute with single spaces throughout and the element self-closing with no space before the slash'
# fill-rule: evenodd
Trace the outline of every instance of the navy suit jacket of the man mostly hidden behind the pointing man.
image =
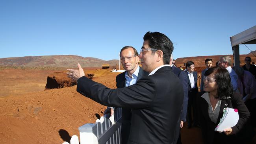
<svg viewBox="0 0 256 144">
<path fill-rule="evenodd" d="M 182 83 L 183 91 L 184 91 L 184 98 L 183 98 L 183 107 L 182 107 L 182 113 L 180 116 L 180 120 L 183 122 L 186 122 L 186 115 L 187 115 L 187 101 L 188 101 L 188 95 L 187 95 L 187 76 L 186 72 L 181 70 L 180 68 L 177 68 L 176 66 L 172 66 L 173 73 L 178 76 Z"/>
</svg>

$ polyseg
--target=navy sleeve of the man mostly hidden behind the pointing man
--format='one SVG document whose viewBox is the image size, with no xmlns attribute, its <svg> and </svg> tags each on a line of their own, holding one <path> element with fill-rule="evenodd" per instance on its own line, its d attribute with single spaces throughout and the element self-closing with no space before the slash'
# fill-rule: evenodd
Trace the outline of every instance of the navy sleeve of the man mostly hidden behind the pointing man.
<svg viewBox="0 0 256 144">
<path fill-rule="evenodd" d="M 186 72 L 182 71 L 180 72 L 180 75 L 178 77 L 180 81 L 182 82 L 183 92 L 184 92 L 184 98 L 183 98 L 183 107 L 182 107 L 182 113 L 181 113 L 181 120 L 183 122 L 186 122 L 186 115 L 187 115 L 187 102 L 188 102 L 188 94 L 187 94 L 187 76 Z"/>
</svg>

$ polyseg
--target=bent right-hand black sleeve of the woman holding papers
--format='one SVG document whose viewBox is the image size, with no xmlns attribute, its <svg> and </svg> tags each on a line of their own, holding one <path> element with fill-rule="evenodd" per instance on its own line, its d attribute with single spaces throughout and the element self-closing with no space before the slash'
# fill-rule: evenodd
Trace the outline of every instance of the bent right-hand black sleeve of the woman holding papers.
<svg viewBox="0 0 256 144">
<path fill-rule="evenodd" d="M 250 113 L 242 100 L 242 95 L 234 92 L 233 94 L 234 108 L 238 109 L 239 120 L 236 126 L 232 127 L 232 134 L 237 134 L 247 123 L 250 117 Z"/>
</svg>

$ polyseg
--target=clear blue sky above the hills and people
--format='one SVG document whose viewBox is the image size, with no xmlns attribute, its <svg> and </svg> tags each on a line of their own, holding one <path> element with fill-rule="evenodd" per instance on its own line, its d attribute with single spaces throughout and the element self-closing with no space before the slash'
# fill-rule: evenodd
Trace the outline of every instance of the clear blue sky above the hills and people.
<svg viewBox="0 0 256 144">
<path fill-rule="evenodd" d="M 0 58 L 118 59 L 123 46 L 139 51 L 147 31 L 173 41 L 174 59 L 232 54 L 230 36 L 256 25 L 255 6 L 256 0 L 0 0 Z M 249 52 L 240 45 L 240 54 Z"/>
</svg>

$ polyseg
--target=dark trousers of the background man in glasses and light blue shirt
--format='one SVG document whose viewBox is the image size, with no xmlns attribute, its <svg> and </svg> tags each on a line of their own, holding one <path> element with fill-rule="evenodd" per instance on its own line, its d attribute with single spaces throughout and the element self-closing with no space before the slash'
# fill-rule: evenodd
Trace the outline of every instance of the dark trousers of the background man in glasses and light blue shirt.
<svg viewBox="0 0 256 144">
<path fill-rule="evenodd" d="M 198 114 L 197 114 L 197 89 L 191 89 L 188 92 L 188 103 L 187 103 L 187 122 L 189 126 L 197 126 L 198 122 Z M 193 114 L 192 114 L 193 112 Z M 192 118 L 193 115 L 193 118 Z"/>
</svg>

